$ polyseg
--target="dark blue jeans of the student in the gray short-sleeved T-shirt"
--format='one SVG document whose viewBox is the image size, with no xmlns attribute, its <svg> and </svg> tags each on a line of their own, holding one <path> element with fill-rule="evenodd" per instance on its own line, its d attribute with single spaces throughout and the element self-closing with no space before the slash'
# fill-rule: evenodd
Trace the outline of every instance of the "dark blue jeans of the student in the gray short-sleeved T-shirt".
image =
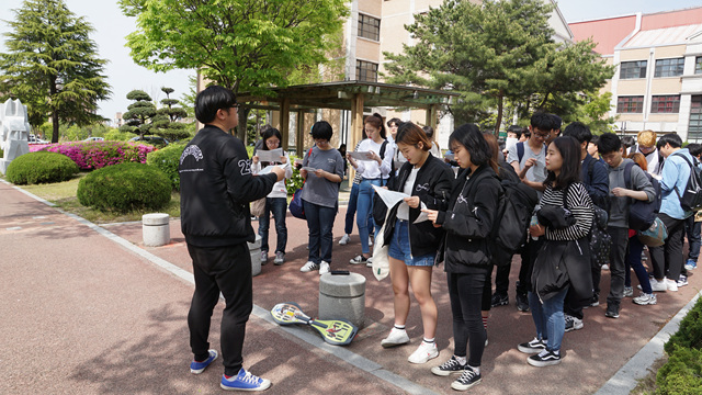
<svg viewBox="0 0 702 395">
<path fill-rule="evenodd" d="M 303 200 L 303 208 L 309 229 L 309 257 L 307 260 L 317 264 L 321 261 L 331 263 L 331 228 L 337 216 L 337 207 L 327 207 Z"/>
</svg>

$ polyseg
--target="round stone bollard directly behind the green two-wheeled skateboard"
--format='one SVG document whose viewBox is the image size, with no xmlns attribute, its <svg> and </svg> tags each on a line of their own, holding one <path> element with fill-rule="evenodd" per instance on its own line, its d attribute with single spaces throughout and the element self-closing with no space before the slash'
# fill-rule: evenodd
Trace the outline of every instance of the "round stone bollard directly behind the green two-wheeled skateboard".
<svg viewBox="0 0 702 395">
<path fill-rule="evenodd" d="M 365 278 L 359 273 L 319 276 L 319 319 L 346 319 L 359 329 L 365 316 Z"/>
</svg>

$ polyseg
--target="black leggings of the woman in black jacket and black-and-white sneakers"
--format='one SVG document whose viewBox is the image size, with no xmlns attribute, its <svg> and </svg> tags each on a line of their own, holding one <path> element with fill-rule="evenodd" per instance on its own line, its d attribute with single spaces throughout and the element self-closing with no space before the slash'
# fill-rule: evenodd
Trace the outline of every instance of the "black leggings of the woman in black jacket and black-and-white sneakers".
<svg viewBox="0 0 702 395">
<path fill-rule="evenodd" d="M 469 341 L 468 364 L 477 368 L 483 359 L 487 337 L 480 305 L 488 268 L 471 267 L 469 270 L 469 273 L 448 273 L 446 279 L 453 315 L 454 354 L 465 357 Z"/>
</svg>

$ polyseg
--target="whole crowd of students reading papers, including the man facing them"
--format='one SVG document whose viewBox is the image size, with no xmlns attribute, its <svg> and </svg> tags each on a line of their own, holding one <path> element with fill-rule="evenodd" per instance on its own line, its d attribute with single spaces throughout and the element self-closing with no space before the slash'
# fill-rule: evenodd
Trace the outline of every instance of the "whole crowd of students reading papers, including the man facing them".
<svg viewBox="0 0 702 395">
<path fill-rule="evenodd" d="M 229 90 L 211 87 L 201 92 L 196 115 L 206 126 L 181 157 L 181 224 L 195 274 L 188 318 L 194 354 L 191 371 L 202 373 L 218 357 L 208 349 L 207 332 L 222 292 L 227 307 L 222 324 L 225 373 L 220 385 L 261 391 L 270 381 L 246 371 L 241 357 L 252 308 L 250 256 L 241 253 L 244 242 L 253 237 L 246 203 L 267 196 L 264 217 L 259 221 L 264 238 L 261 260 L 268 260 L 268 213 L 272 213 L 278 233 L 274 263 L 282 264 L 286 202 L 280 193 L 284 179 L 291 177 L 291 163 L 286 154 L 271 162 L 254 153 L 248 160 L 242 144 L 226 133 L 237 124 L 236 106 Z M 380 257 L 371 256 L 371 237 L 382 233 L 376 241 L 387 247 L 383 258 L 388 261 L 394 295 L 394 326 L 382 347 L 409 342 L 405 324 L 411 287 L 421 312 L 423 338 L 408 361 L 427 363 L 439 357 L 434 339 L 438 308 L 430 290 L 432 270 L 443 263 L 454 350 L 431 372 L 457 374 L 451 383 L 456 391 L 478 384 L 488 343 L 488 312 L 509 304 L 509 272 L 512 256 L 519 253 L 516 304 L 531 312 L 534 338 L 517 348 L 530 354 L 525 361 L 531 365 L 561 363 L 564 334 L 582 329 L 582 309 L 601 301 L 603 264 L 611 274 L 603 301 L 609 318 L 618 318 L 625 297 L 634 294 L 632 269 L 641 290 L 632 298 L 636 305 L 656 304 L 656 293 L 676 292 L 688 284 L 687 272 L 697 268 L 699 257 L 700 218 L 680 191 L 686 191 L 702 154 L 697 144 L 683 148 L 675 133 L 658 137 L 644 131 L 634 145 L 611 133 L 592 136 L 578 122 L 562 133 L 561 124 L 555 115 L 535 113 L 526 131 L 510 127 L 503 147 L 491 133 L 465 124 L 451 134 L 448 148 L 452 155 L 442 160 L 431 139 L 433 131 L 397 119 L 384 124 L 373 114 L 364 121 L 366 138 L 354 149 L 369 153 L 367 160 L 358 160 L 350 154 L 344 159 L 330 145 L 333 133 L 327 122 L 315 123 L 315 145 L 305 153 L 301 169 L 309 228 L 308 261 L 301 271 L 321 274 L 331 268 L 331 228 L 348 160 L 358 180 L 339 244 L 350 241 L 355 212 L 361 253 L 350 263 L 372 266 L 372 259 Z M 270 128 L 259 149 L 276 149 L 281 139 L 280 132 Z M 264 173 L 262 168 L 272 163 L 279 166 Z M 385 207 L 374 199 L 373 185 L 407 198 Z M 514 228 L 517 237 L 508 239 Z M 667 238 L 656 236 L 663 235 L 656 233 L 660 229 L 667 230 Z M 690 241 L 687 261 L 682 256 L 686 234 Z M 512 246 L 514 240 L 517 246 Z"/>
</svg>

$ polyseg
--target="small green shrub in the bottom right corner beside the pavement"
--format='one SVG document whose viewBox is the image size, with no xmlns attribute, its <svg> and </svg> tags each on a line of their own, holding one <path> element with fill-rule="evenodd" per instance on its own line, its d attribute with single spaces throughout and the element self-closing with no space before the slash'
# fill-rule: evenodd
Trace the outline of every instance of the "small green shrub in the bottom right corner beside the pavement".
<svg viewBox="0 0 702 395">
<path fill-rule="evenodd" d="M 675 345 L 656 374 L 656 394 L 702 394 L 702 351 Z"/>
</svg>

